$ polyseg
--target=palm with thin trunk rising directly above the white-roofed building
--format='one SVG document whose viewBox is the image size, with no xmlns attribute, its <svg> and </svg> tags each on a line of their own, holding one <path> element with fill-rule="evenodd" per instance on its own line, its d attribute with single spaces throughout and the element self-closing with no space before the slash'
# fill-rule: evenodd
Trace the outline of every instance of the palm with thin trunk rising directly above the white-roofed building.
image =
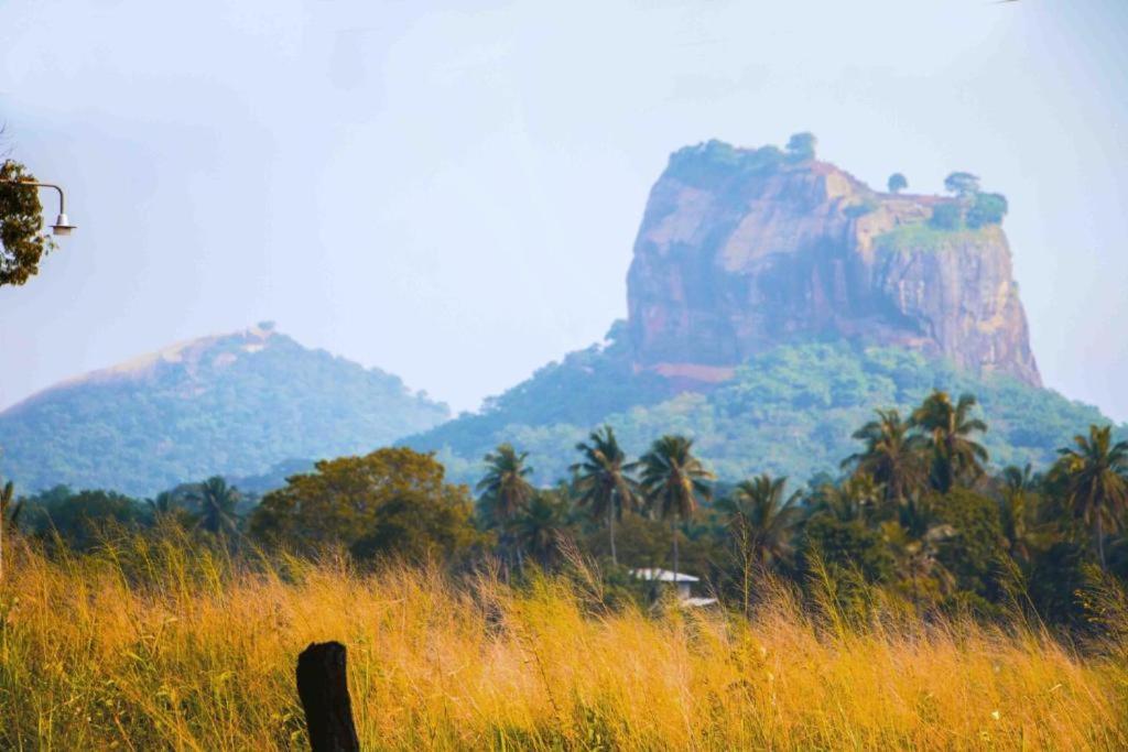
<svg viewBox="0 0 1128 752">
<path fill-rule="evenodd" d="M 675 523 L 688 520 L 697 499 L 710 497 L 706 480 L 713 477 L 693 454 L 694 442 L 685 436 L 666 435 L 643 454 L 641 486 L 653 514 L 670 521 L 673 537 L 673 578 L 678 578 L 678 532 Z"/>
</svg>

